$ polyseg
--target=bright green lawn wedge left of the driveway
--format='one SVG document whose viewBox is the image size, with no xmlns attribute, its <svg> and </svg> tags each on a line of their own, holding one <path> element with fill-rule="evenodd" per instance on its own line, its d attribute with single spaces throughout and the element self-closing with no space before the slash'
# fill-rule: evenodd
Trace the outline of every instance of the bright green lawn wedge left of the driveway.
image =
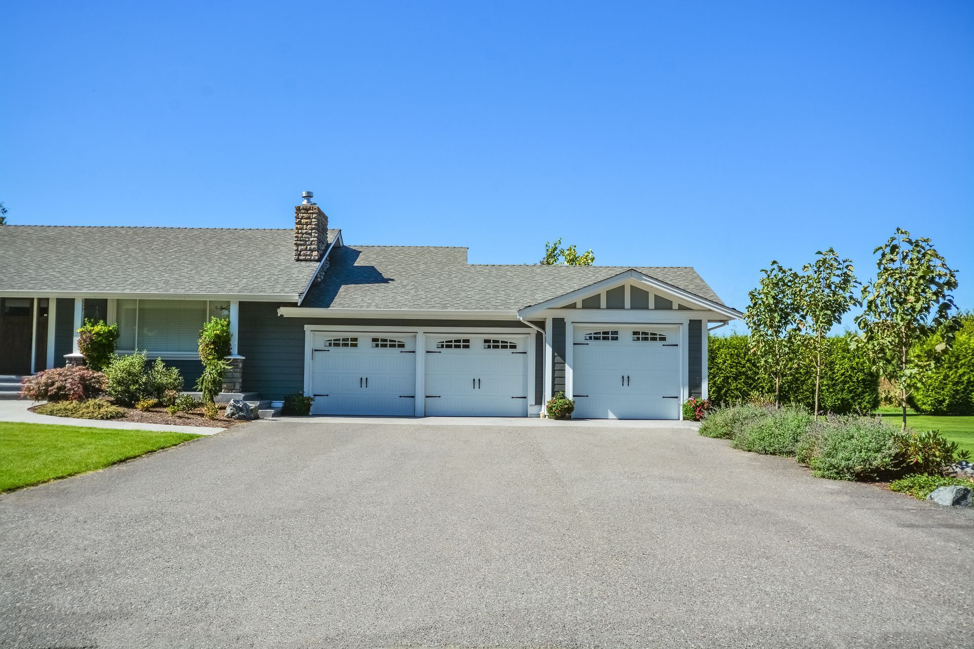
<svg viewBox="0 0 974 649">
<path fill-rule="evenodd" d="M 0 422 L 0 491 L 102 469 L 202 435 Z"/>
</svg>

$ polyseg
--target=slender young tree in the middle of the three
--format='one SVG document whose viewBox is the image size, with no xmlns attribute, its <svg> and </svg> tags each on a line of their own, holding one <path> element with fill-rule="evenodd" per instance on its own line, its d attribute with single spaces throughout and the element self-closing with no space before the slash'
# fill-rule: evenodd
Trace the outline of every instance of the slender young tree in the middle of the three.
<svg viewBox="0 0 974 649">
<path fill-rule="evenodd" d="M 828 349 L 828 335 L 842 322 L 843 315 L 859 301 L 852 294 L 852 287 L 859 282 L 855 278 L 852 260 L 839 259 L 833 248 L 818 255 L 811 264 L 802 268 L 799 289 L 799 306 L 805 319 L 805 343 L 811 363 L 815 368 L 815 405 L 818 416 L 818 394 L 822 384 L 823 353 Z"/>
</svg>

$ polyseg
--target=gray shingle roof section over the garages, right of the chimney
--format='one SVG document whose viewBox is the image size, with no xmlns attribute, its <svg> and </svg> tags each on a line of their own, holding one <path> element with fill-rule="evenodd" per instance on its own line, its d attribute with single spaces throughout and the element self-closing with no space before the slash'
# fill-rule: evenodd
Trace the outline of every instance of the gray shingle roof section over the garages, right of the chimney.
<svg viewBox="0 0 974 649">
<path fill-rule="evenodd" d="M 689 267 L 468 265 L 467 248 L 335 248 L 321 283 L 302 306 L 506 310 L 537 305 L 638 270 L 724 304 Z"/>
</svg>

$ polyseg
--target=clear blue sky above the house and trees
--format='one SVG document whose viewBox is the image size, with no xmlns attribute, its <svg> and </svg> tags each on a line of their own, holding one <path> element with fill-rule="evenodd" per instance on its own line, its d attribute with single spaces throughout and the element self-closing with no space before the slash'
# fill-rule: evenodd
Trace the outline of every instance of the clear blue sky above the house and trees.
<svg viewBox="0 0 974 649">
<path fill-rule="evenodd" d="M 768 260 L 832 245 L 865 275 L 902 226 L 974 306 L 974 3 L 15 0 L 0 24 L 13 223 L 287 228 L 309 189 L 349 243 L 530 263 L 562 236 L 739 308 Z"/>
</svg>

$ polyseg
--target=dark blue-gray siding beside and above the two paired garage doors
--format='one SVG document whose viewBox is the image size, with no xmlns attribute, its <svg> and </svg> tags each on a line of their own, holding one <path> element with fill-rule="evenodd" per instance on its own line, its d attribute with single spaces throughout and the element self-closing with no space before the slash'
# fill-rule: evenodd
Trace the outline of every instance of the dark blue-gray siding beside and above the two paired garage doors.
<svg viewBox="0 0 974 649">
<path fill-rule="evenodd" d="M 282 399 L 304 389 L 305 325 L 341 325 L 354 329 L 377 327 L 517 327 L 509 320 L 403 320 L 398 318 L 284 318 L 282 305 L 242 302 L 240 306 L 240 354 L 244 356 L 244 392 L 258 392 L 265 399 Z M 285 305 L 290 306 L 290 305 Z M 564 320 L 562 320 L 564 333 Z M 543 343 L 539 345 L 542 348 Z M 542 361 L 543 362 L 543 361 Z M 536 366 L 539 369 L 541 366 Z M 536 373 L 535 394 L 543 385 Z"/>
</svg>

